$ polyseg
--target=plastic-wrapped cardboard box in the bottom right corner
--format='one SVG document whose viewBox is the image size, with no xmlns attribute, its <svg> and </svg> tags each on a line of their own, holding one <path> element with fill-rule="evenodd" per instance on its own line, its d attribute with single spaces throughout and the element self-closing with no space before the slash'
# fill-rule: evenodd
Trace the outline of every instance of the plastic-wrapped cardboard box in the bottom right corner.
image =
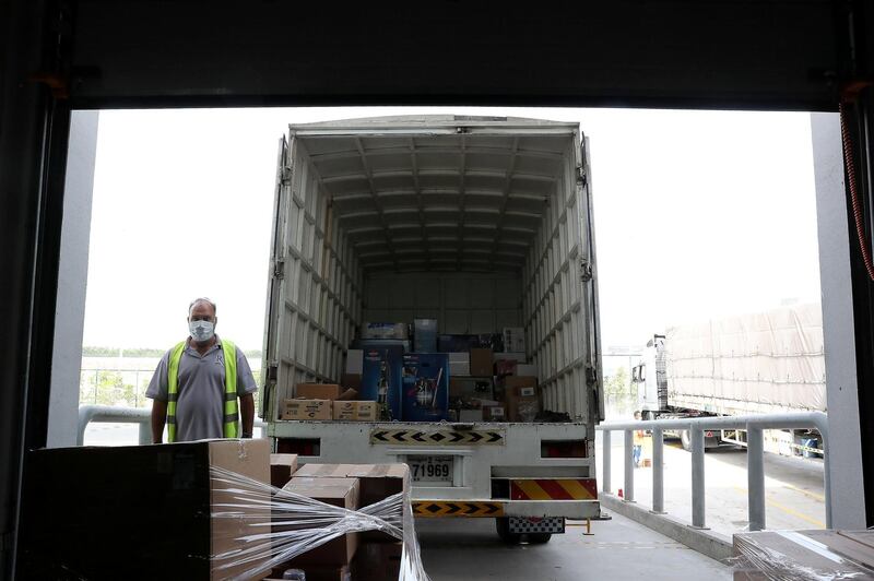
<svg viewBox="0 0 874 581">
<path fill-rule="evenodd" d="M 870 579 L 874 531 L 759 531 L 734 535 L 734 579 Z"/>
</svg>

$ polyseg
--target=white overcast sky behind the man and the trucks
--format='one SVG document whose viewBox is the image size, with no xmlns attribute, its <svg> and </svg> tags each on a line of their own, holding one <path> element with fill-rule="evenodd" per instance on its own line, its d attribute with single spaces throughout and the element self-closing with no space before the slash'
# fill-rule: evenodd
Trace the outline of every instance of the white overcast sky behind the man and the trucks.
<svg viewBox="0 0 874 581">
<path fill-rule="evenodd" d="M 168 348 L 188 303 L 262 347 L 276 144 L 290 122 L 449 112 L 578 121 L 591 140 L 602 345 L 819 299 L 806 114 L 555 108 L 103 111 L 85 345 Z"/>
</svg>

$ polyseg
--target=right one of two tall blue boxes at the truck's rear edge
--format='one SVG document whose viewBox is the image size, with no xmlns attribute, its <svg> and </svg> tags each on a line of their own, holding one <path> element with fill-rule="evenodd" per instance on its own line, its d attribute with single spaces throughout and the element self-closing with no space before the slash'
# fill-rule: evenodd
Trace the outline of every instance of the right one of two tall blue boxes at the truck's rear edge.
<svg viewBox="0 0 874 581">
<path fill-rule="evenodd" d="M 449 419 L 449 356 L 408 353 L 403 356 L 403 420 Z"/>
</svg>

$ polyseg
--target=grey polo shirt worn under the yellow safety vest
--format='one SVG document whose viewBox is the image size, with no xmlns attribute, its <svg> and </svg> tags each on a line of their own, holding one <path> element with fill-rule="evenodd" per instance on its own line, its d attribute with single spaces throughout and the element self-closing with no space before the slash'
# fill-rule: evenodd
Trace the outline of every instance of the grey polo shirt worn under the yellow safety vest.
<svg viewBox="0 0 874 581">
<path fill-rule="evenodd" d="M 215 345 L 203 356 L 191 345 L 186 345 L 182 352 L 176 400 L 176 441 L 224 436 L 225 361 L 222 340 L 218 335 L 215 339 Z M 172 351 L 167 351 L 157 364 L 155 375 L 145 390 L 146 398 L 167 401 L 167 368 Z M 237 347 L 237 395 L 255 393 L 257 390 L 249 361 Z"/>
</svg>

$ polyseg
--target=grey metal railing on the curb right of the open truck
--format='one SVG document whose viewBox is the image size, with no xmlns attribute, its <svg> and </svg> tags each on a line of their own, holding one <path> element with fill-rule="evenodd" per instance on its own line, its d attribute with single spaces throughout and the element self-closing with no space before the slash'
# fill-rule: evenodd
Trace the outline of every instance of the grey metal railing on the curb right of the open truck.
<svg viewBox="0 0 874 581">
<path fill-rule="evenodd" d="M 692 526 L 705 526 L 704 435 L 709 430 L 746 430 L 747 510 L 751 531 L 765 529 L 766 429 L 816 429 L 823 440 L 826 527 L 831 529 L 831 482 L 828 470 L 828 417 L 822 412 L 718 416 L 646 422 L 610 422 L 595 427 L 603 432 L 602 489 L 611 486 L 611 432 L 625 434 L 625 500 L 635 499 L 634 431 L 652 432 L 652 512 L 664 514 L 664 430 L 688 430 L 692 442 Z"/>
</svg>

